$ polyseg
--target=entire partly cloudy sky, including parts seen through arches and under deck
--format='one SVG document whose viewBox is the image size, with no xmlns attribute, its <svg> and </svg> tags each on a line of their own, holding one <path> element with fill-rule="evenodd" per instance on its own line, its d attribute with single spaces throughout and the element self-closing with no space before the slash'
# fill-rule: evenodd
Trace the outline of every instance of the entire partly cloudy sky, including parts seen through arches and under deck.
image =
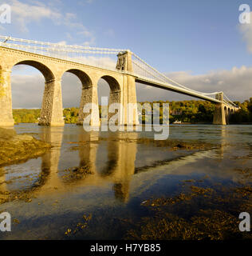
<svg viewBox="0 0 252 256">
<path fill-rule="evenodd" d="M 244 1 L 222 0 L 0 0 L 11 6 L 11 24 L 0 34 L 44 42 L 130 49 L 157 70 L 191 89 L 224 91 L 232 100 L 252 97 L 252 13 L 240 24 Z M 252 2 L 250 8 L 252 10 Z M 14 108 L 41 106 L 44 78 L 28 66 L 12 70 Z M 187 96 L 137 84 L 137 98 Z M 99 95 L 108 94 L 99 82 Z M 62 78 L 63 104 L 78 106 L 81 83 Z"/>
</svg>

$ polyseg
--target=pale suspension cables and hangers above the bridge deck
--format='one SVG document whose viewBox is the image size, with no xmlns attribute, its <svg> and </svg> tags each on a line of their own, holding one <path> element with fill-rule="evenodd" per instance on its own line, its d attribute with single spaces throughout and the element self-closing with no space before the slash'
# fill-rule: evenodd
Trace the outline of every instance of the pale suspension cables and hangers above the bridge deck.
<svg viewBox="0 0 252 256">
<path fill-rule="evenodd" d="M 128 51 L 124 49 L 110 49 L 91 46 L 77 46 L 66 45 L 65 43 L 52 43 L 52 42 L 38 42 L 34 40 L 27 40 L 22 38 L 11 38 L 0 35 L 0 46 L 8 47 L 15 50 L 23 50 L 33 54 L 41 54 L 51 58 L 59 58 L 62 60 L 68 60 L 71 62 L 77 62 L 89 66 L 96 66 L 106 70 L 113 70 L 122 73 L 128 73 L 125 71 L 116 70 L 117 54 L 121 51 Z M 175 86 L 180 90 L 187 91 L 188 94 L 199 95 L 204 98 L 215 98 L 214 93 L 202 93 L 196 90 L 192 90 L 187 86 L 183 86 L 179 82 L 175 82 L 171 78 L 168 78 L 165 74 L 160 73 L 158 70 L 144 62 L 136 54 L 132 53 L 132 70 L 133 76 L 144 78 L 150 82 L 161 83 L 164 86 Z M 225 94 L 223 102 L 236 106 Z M 216 102 L 216 101 L 215 101 Z"/>
</svg>

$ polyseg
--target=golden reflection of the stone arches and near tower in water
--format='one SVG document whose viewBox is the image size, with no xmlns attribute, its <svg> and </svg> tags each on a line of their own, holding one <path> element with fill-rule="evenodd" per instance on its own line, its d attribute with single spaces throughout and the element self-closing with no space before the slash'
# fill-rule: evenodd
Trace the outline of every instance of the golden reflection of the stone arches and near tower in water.
<svg viewBox="0 0 252 256">
<path fill-rule="evenodd" d="M 65 151 L 62 149 L 62 140 L 64 140 L 64 127 L 42 127 L 41 139 L 53 145 L 53 149 L 41 157 L 41 173 L 34 180 L 30 189 L 36 194 L 52 194 L 61 191 L 71 190 L 74 187 L 85 186 L 108 186 L 113 184 L 112 188 L 115 197 L 120 201 L 126 202 L 129 194 L 129 183 L 135 172 L 136 159 L 136 140 L 137 134 L 127 134 L 127 138 L 132 138 L 131 142 L 125 141 L 125 134 L 108 134 L 106 139 L 106 149 L 108 158 L 102 167 L 96 165 L 99 158 L 99 134 L 97 132 L 85 133 L 80 127 L 79 142 L 77 150 L 79 151 L 79 162 L 75 164 L 78 167 L 85 167 L 91 174 L 83 174 L 83 177 L 75 179 L 64 179 L 67 174 L 75 174 L 76 170 L 59 170 L 59 162 L 65 158 Z M 73 151 L 72 151 L 73 152 Z M 63 153 L 63 154 L 62 154 Z M 64 159 L 63 159 L 64 160 Z M 6 184 L 5 170 L 2 168 L 0 174 L 0 190 L 11 190 Z M 70 175 L 70 177 L 72 177 Z M 13 181 L 18 182 L 18 181 Z M 35 185 L 34 185 L 35 184 Z"/>
</svg>

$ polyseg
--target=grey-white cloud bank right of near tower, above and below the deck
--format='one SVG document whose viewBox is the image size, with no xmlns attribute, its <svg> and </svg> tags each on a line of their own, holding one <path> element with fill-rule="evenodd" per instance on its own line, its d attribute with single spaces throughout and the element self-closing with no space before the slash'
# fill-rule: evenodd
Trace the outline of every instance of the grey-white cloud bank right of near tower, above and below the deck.
<svg viewBox="0 0 252 256">
<path fill-rule="evenodd" d="M 167 73 L 167 77 L 193 90 L 205 93 L 223 91 L 233 101 L 243 102 L 252 97 L 252 67 L 233 67 L 232 70 L 215 70 L 200 75 L 181 71 Z M 143 85 L 137 85 L 136 90 L 139 101 L 191 99 L 182 94 Z"/>
</svg>

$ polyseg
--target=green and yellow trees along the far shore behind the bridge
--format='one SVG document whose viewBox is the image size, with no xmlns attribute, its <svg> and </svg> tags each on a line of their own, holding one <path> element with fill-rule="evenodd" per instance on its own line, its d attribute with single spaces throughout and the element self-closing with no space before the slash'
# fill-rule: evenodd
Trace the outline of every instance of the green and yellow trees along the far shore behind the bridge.
<svg viewBox="0 0 252 256">
<path fill-rule="evenodd" d="M 153 103 L 159 103 L 161 106 L 159 113 L 160 123 L 163 122 L 163 103 L 169 103 L 169 120 L 175 122 L 176 120 L 181 122 L 191 123 L 211 123 L 213 122 L 215 104 L 206 101 L 183 101 L 183 102 L 141 102 L 141 104 L 149 103 L 152 106 L 151 112 L 153 113 Z M 246 100 L 243 103 L 235 102 L 240 106 L 235 114 L 230 116 L 231 123 L 238 122 L 252 122 L 252 98 L 250 101 Z M 101 108 L 100 116 L 101 116 Z M 156 111 L 156 110 L 154 110 Z M 65 117 L 65 123 L 77 123 L 79 109 L 77 107 L 71 107 L 63 110 L 63 116 Z M 15 122 L 38 122 L 40 118 L 41 110 L 13 110 Z M 147 121 L 143 111 L 143 123 Z M 148 120 L 150 121 L 150 120 Z"/>
</svg>

